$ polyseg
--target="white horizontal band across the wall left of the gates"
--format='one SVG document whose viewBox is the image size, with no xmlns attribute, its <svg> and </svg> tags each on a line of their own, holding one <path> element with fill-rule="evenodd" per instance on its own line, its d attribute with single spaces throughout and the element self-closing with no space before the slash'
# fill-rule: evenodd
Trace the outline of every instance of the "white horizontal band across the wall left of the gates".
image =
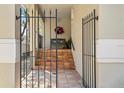
<svg viewBox="0 0 124 93">
<path fill-rule="evenodd" d="M 0 63 L 15 63 L 16 61 L 15 39 L 0 39 Z"/>
</svg>

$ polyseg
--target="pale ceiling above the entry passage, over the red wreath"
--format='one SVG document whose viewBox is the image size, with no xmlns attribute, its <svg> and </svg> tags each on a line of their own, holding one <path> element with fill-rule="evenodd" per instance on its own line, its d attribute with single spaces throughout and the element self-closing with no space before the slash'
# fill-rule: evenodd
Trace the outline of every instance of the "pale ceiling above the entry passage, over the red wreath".
<svg viewBox="0 0 124 93">
<path fill-rule="evenodd" d="M 40 4 L 42 11 L 45 10 L 45 15 L 50 16 L 50 10 L 52 11 L 52 16 L 55 16 L 55 10 L 57 9 L 57 17 L 59 19 L 63 17 L 69 18 L 71 16 L 72 4 Z"/>
</svg>

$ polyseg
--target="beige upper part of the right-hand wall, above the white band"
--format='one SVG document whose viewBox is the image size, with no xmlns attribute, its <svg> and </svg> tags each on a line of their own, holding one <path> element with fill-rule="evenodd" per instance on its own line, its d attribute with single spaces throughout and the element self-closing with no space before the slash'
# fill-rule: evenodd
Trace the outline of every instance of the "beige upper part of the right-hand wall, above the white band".
<svg viewBox="0 0 124 93">
<path fill-rule="evenodd" d="M 100 5 L 99 7 L 99 38 L 124 38 L 124 5 Z"/>
</svg>

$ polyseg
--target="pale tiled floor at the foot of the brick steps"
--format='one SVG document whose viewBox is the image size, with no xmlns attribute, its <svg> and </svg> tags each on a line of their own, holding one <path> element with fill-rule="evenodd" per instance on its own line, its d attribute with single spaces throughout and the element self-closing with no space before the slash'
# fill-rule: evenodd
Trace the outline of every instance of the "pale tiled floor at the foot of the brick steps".
<svg viewBox="0 0 124 93">
<path fill-rule="evenodd" d="M 59 70 L 58 88 L 81 88 L 81 77 L 76 70 Z M 56 87 L 56 74 L 53 72 L 51 87 Z M 45 73 L 45 88 L 50 87 L 50 73 Z M 44 72 L 39 71 L 39 86 L 44 88 Z M 26 79 L 22 79 L 22 87 L 26 87 Z M 38 88 L 38 70 L 33 70 L 33 87 Z M 32 88 L 32 72 L 27 76 L 27 88 Z"/>
</svg>

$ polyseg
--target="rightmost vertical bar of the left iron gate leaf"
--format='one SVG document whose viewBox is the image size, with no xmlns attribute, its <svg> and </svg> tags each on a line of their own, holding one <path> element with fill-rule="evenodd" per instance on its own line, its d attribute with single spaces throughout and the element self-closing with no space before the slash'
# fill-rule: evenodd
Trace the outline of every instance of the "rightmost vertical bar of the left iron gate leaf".
<svg viewBox="0 0 124 93">
<path fill-rule="evenodd" d="M 56 28 L 57 28 L 57 9 L 56 9 Z M 58 55 L 58 47 L 57 47 L 57 33 L 56 33 L 56 88 L 58 87 L 58 56 L 57 55 Z"/>
</svg>

